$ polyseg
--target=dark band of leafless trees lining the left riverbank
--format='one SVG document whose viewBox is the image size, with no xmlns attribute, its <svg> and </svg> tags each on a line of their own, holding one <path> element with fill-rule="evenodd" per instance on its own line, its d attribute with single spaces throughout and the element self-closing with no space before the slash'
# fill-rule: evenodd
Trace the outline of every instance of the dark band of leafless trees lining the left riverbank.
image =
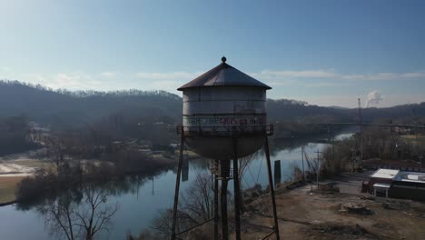
<svg viewBox="0 0 425 240">
<path fill-rule="evenodd" d="M 55 167 L 37 168 L 34 175 L 25 177 L 18 185 L 16 199 L 31 204 L 83 185 L 123 181 L 129 174 L 155 175 L 174 165 L 173 159 L 153 159 L 136 150 L 119 151 L 110 157 L 98 161 L 57 160 Z"/>
</svg>

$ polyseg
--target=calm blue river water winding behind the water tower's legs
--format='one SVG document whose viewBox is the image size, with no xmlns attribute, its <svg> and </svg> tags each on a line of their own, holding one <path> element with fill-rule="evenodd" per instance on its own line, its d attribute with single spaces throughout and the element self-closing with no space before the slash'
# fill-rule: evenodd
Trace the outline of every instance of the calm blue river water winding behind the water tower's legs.
<svg viewBox="0 0 425 240">
<path fill-rule="evenodd" d="M 351 136 L 351 132 L 342 133 L 336 139 Z M 311 159 L 315 151 L 321 151 L 327 144 L 312 143 L 308 140 L 291 141 L 285 143 L 272 143 L 272 162 L 281 160 L 282 181 L 288 179 L 292 174 L 292 165 L 301 165 L 301 146 Z M 267 169 L 265 156 L 261 154 L 252 158 L 251 164 L 246 167 L 242 177 L 242 186 L 250 187 L 254 184 L 267 186 Z M 272 164 L 272 172 L 274 165 Z M 188 179 L 181 184 L 181 194 L 193 183 L 197 174 L 208 173 L 208 164 L 203 160 L 189 161 Z M 131 232 L 137 235 L 145 229 L 149 229 L 153 218 L 160 210 L 173 206 L 173 195 L 175 186 L 174 171 L 162 174 L 128 179 L 122 191 L 109 195 L 107 202 L 118 203 L 119 208 L 112 221 L 113 226 L 109 235 L 102 234 L 102 239 L 124 239 Z M 229 185 L 232 189 L 232 185 Z M 44 226 L 44 217 L 39 215 L 35 207 L 22 210 L 17 205 L 0 207 L 0 238 L 1 239 L 33 239 L 46 240 L 55 239 L 49 235 L 49 229 Z"/>
</svg>

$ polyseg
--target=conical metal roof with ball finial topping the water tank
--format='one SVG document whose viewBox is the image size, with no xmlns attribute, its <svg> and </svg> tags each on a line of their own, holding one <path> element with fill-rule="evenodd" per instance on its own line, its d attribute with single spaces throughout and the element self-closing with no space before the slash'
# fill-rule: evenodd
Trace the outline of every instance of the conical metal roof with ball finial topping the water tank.
<svg viewBox="0 0 425 240">
<path fill-rule="evenodd" d="M 272 89 L 272 87 L 264 85 L 262 82 L 258 81 L 252 76 L 242 73 L 238 69 L 232 67 L 232 65 L 226 64 L 226 58 L 223 56 L 222 64 L 217 65 L 210 71 L 196 77 L 191 82 L 182 85 L 181 87 L 177 88 L 177 90 L 183 91 L 183 89 L 189 87 L 217 85 L 252 85 L 266 89 Z"/>
</svg>

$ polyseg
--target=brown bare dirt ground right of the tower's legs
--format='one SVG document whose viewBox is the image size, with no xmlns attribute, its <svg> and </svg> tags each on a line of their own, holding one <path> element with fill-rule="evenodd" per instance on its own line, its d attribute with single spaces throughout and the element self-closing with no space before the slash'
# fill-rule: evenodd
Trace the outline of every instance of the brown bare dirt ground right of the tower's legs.
<svg viewBox="0 0 425 240">
<path fill-rule="evenodd" d="M 359 183 L 367 175 L 337 179 L 341 193 L 311 193 L 310 185 L 278 189 L 281 239 L 425 239 L 425 203 L 364 197 Z M 341 211 L 342 204 L 363 205 L 367 211 Z M 272 232 L 262 227 L 272 226 L 270 195 L 258 198 L 247 209 L 242 216 L 242 239 L 262 239 Z"/>
</svg>

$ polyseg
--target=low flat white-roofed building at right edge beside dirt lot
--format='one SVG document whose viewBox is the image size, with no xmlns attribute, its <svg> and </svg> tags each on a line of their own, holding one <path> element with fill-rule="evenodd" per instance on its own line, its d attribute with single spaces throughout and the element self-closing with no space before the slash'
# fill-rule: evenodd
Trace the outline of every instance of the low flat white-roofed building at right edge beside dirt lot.
<svg viewBox="0 0 425 240">
<path fill-rule="evenodd" d="M 425 200 L 425 173 L 379 169 L 369 177 L 368 192 L 373 195 Z"/>
</svg>

